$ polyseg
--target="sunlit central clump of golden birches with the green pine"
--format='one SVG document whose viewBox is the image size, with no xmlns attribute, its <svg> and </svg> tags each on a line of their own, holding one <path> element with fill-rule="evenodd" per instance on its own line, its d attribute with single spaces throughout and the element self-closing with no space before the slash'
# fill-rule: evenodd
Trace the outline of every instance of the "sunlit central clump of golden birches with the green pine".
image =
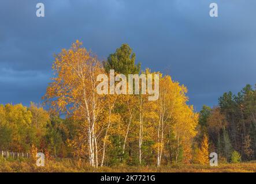
<svg viewBox="0 0 256 184">
<path fill-rule="evenodd" d="M 101 62 L 76 41 L 55 56 L 55 78 L 44 100 L 51 112 L 79 122 L 76 136 L 68 142 L 73 154 L 87 158 L 91 166 L 189 162 L 198 114 L 187 105 L 186 87 L 169 75 L 142 71 L 135 59 L 123 44 Z M 141 93 L 99 95 L 97 76 L 109 75 L 110 70 L 125 76 L 159 74 L 158 100 L 149 101 Z"/>
</svg>

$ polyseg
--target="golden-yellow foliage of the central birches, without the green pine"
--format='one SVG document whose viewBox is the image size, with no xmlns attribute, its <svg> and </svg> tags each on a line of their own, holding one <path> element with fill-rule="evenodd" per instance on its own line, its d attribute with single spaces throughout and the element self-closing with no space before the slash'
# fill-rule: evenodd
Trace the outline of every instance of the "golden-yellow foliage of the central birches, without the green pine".
<svg viewBox="0 0 256 184">
<path fill-rule="evenodd" d="M 90 151 L 91 158 L 101 155 L 106 145 L 113 144 L 110 137 L 116 135 L 124 141 L 124 151 L 125 141 L 151 141 L 153 149 L 164 150 L 170 130 L 183 147 L 183 154 L 190 158 L 198 114 L 187 105 L 187 88 L 173 82 L 169 75 L 152 73 L 160 77 L 157 101 L 148 101 L 147 95 L 141 94 L 99 95 L 97 76 L 106 72 L 97 56 L 79 40 L 55 56 L 53 70 L 55 77 L 44 99 L 55 111 L 68 112 L 74 120 L 83 122 L 76 138 L 69 142 L 75 155 L 88 156 L 89 150 L 95 151 Z M 150 70 L 145 73 L 150 74 Z"/>
</svg>

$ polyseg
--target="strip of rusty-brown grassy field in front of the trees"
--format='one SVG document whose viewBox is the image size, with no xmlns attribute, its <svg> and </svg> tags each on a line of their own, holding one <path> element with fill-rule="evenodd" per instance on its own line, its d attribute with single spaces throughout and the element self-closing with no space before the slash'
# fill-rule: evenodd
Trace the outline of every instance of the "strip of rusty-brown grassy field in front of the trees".
<svg viewBox="0 0 256 184">
<path fill-rule="evenodd" d="M 0 159 L 0 173 L 2 172 L 165 172 L 165 173 L 179 173 L 179 172 L 256 172 L 256 162 L 246 162 L 238 164 L 220 164 L 218 167 L 202 166 L 199 164 L 175 164 L 172 166 L 162 166 L 157 168 L 155 166 L 116 166 L 116 167 L 99 167 L 97 169 L 88 166 L 88 164 L 71 160 L 47 160 L 44 167 L 37 167 L 36 164 L 30 160 L 5 160 Z"/>
</svg>

